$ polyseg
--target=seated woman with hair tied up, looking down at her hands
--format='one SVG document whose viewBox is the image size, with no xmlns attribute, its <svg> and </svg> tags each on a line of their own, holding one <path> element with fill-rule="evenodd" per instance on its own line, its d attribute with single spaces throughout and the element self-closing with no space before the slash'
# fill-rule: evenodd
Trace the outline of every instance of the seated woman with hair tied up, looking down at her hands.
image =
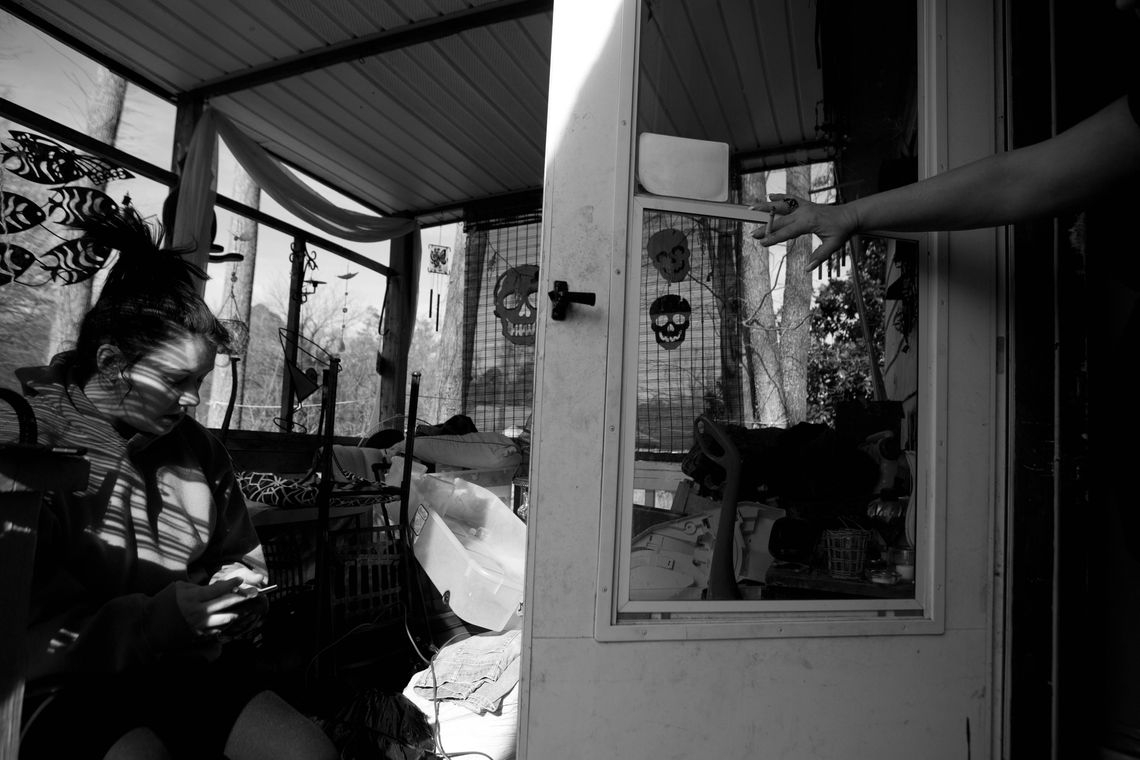
<svg viewBox="0 0 1140 760">
<path fill-rule="evenodd" d="M 259 685 L 233 637 L 264 612 L 264 562 L 226 450 L 187 416 L 228 335 L 127 206 L 84 224 L 119 252 L 74 351 L 17 373 L 40 442 L 82 447 L 89 485 L 42 509 L 22 758 L 334 758 Z M 46 701 L 35 685 L 60 684 Z"/>
</svg>

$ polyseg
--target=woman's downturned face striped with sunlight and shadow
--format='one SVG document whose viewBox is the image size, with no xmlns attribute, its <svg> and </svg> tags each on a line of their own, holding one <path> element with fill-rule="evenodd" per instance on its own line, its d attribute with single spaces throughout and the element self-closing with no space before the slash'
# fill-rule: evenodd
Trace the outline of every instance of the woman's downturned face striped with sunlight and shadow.
<svg viewBox="0 0 1140 760">
<path fill-rule="evenodd" d="M 187 409 L 198 406 L 198 389 L 213 370 L 214 353 L 201 335 L 179 335 L 161 344 L 122 374 L 112 417 L 142 433 L 169 433 Z"/>
</svg>

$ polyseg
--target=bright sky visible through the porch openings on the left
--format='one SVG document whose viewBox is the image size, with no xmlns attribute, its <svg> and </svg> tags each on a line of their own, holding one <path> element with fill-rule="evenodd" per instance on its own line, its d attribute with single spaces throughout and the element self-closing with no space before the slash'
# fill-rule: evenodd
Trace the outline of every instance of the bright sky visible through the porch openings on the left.
<svg viewBox="0 0 1140 760">
<path fill-rule="evenodd" d="M 0 96 L 35 111 L 62 124 L 82 131 L 84 128 L 83 114 L 87 106 L 87 92 L 92 85 L 91 71 L 96 65 L 90 63 L 81 54 L 71 50 L 65 44 L 52 40 L 38 30 L 27 26 L 22 21 L 0 10 Z M 170 146 L 173 134 L 174 107 L 140 88 L 130 85 L 127 92 L 123 119 L 120 124 L 116 147 L 139 156 L 160 167 L 170 166 Z M 18 124 L 11 124 L 10 129 L 21 129 Z M 7 133 L 0 133 L 0 140 L 7 139 Z M 225 144 L 221 144 L 219 157 L 218 191 L 221 195 L 233 196 L 234 172 L 233 158 Z M 122 188 L 116 188 L 116 183 L 111 183 L 107 194 L 112 198 L 120 201 L 123 194 Z M 359 204 L 349 198 L 340 196 L 327 188 L 320 188 L 316 182 L 310 182 L 327 197 L 335 199 L 340 205 L 353 211 L 367 212 Z M 145 215 L 160 216 L 162 202 L 166 195 L 166 188 L 142 179 L 133 179 L 125 187 L 130 188 L 130 194 L 135 206 Z M 292 218 L 284 212 L 271 198 L 262 195 L 261 211 L 287 220 L 295 227 L 314 231 L 321 237 L 334 239 L 316 228 Z M 455 245 L 456 226 L 429 228 L 422 232 L 424 248 L 424 261 L 427 260 L 427 245 L 438 244 L 446 246 Z M 218 211 L 218 234 L 214 242 L 227 246 L 233 243 L 230 235 L 230 214 Z M 358 244 L 343 240 L 335 240 L 344 247 L 361 253 L 369 259 L 388 263 L 388 243 Z M 259 231 L 258 246 L 258 276 L 254 286 L 254 303 L 274 302 L 274 293 L 280 283 L 288 281 L 288 252 L 292 238 L 287 235 L 262 227 Z M 333 288 L 339 300 L 343 300 L 344 286 L 348 285 L 349 301 L 352 311 L 361 311 L 365 305 L 374 305 L 378 309 L 382 292 L 383 277 L 357 264 L 348 263 L 340 256 L 332 256 L 327 253 L 318 252 L 318 270 L 307 276 L 314 279 L 324 280 L 327 285 L 321 287 Z M 357 272 L 355 277 L 340 279 L 344 275 Z M 213 279 L 207 286 L 206 297 L 215 310 L 221 310 L 227 303 L 229 283 L 223 281 L 222 272 L 213 275 Z M 267 276 L 268 275 L 268 276 Z M 434 296 L 446 292 L 447 278 L 439 276 L 423 276 L 421 278 L 420 316 L 425 318 L 426 302 L 429 296 Z M 440 300 L 442 304 L 446 297 Z M 434 317 L 434 312 L 432 314 Z"/>
</svg>

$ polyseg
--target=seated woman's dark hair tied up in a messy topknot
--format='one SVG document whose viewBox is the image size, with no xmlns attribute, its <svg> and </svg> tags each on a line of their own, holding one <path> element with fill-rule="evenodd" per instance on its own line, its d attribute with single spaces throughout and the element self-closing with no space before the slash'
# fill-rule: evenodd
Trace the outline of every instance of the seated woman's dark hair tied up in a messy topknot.
<svg viewBox="0 0 1140 760">
<path fill-rule="evenodd" d="M 152 229 L 133 206 L 75 224 L 88 246 L 119 259 L 107 273 L 99 300 L 80 326 L 75 343 L 76 379 L 95 375 L 100 345 L 116 346 L 129 367 L 179 335 L 198 335 L 214 346 L 229 333 L 195 287 L 205 272 L 187 261 L 184 250 L 161 248 L 161 229 Z"/>
</svg>

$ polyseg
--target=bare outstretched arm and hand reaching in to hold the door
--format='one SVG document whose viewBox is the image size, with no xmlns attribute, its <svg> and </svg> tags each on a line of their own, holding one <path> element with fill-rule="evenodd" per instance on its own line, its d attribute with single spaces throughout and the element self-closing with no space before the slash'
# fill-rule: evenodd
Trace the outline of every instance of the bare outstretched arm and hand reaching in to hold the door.
<svg viewBox="0 0 1140 760">
<path fill-rule="evenodd" d="M 1126 98 L 1060 134 L 1009 153 L 847 204 L 817 205 L 773 195 L 754 207 L 773 212 L 755 237 L 775 245 L 814 234 L 820 246 L 808 268 L 822 263 L 864 230 L 950 230 L 1051 216 L 1086 203 L 1140 174 L 1140 125 Z"/>
</svg>

